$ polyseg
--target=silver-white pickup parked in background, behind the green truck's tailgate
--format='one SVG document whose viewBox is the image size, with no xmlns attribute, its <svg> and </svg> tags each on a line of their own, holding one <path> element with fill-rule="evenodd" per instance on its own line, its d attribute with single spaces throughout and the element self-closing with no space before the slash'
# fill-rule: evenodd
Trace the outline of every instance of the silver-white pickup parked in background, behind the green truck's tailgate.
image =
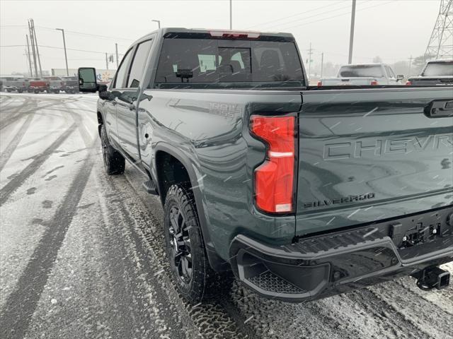
<svg viewBox="0 0 453 339">
<path fill-rule="evenodd" d="M 323 78 L 318 86 L 401 85 L 403 75 L 395 76 L 386 64 L 355 64 L 340 67 L 336 78 Z"/>
</svg>

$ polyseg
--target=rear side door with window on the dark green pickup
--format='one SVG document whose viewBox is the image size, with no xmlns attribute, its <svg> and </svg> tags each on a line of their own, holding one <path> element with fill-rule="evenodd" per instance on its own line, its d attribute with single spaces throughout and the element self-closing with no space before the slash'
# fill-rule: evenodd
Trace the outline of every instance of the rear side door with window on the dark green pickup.
<svg viewBox="0 0 453 339">
<path fill-rule="evenodd" d="M 135 160 L 139 159 L 137 99 L 152 42 L 152 39 L 140 42 L 134 49 L 134 57 L 130 66 L 130 72 L 125 81 L 125 88 L 118 89 L 120 93 L 115 97 L 115 101 L 117 102 L 117 133 L 120 146 Z"/>
</svg>

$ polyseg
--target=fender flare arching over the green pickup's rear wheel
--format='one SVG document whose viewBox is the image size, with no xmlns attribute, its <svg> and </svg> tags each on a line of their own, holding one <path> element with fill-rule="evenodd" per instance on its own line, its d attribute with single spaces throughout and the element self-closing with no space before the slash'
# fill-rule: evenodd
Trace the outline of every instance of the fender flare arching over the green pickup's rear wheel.
<svg viewBox="0 0 453 339">
<path fill-rule="evenodd" d="M 192 165 L 192 162 L 190 161 L 189 157 L 183 153 L 182 150 L 176 148 L 173 145 L 170 145 L 168 143 L 163 143 L 160 142 L 158 143 L 154 148 L 153 148 L 153 168 L 157 169 L 156 167 L 156 155 L 159 152 L 164 152 L 168 153 L 172 157 L 175 157 L 176 160 L 178 160 L 183 166 L 185 167 L 185 170 L 188 172 L 189 178 L 190 178 L 190 184 L 192 187 L 193 191 L 193 196 L 195 198 L 195 208 L 197 209 L 197 215 L 198 215 L 198 221 L 200 222 L 200 227 L 202 231 L 202 237 L 203 241 L 205 242 L 206 246 L 206 254 L 207 258 L 210 262 L 210 266 L 212 267 L 213 270 L 220 272 L 220 271 L 225 271 L 225 270 L 230 270 L 231 266 L 226 264 L 226 261 L 222 259 L 219 254 L 217 254 L 217 251 L 214 248 L 214 244 L 211 241 L 210 237 L 210 230 L 207 225 L 207 220 L 206 220 L 206 214 L 205 214 L 205 208 L 203 207 L 202 203 L 202 193 L 200 191 L 200 188 L 198 187 L 198 181 L 197 181 L 197 175 L 195 174 L 195 169 Z M 159 192 L 162 189 L 161 182 L 159 180 L 159 173 L 155 172 L 156 175 L 156 184 L 159 187 Z M 162 196 L 162 194 L 161 194 Z M 165 201 L 162 201 L 162 206 L 164 206 Z"/>
</svg>

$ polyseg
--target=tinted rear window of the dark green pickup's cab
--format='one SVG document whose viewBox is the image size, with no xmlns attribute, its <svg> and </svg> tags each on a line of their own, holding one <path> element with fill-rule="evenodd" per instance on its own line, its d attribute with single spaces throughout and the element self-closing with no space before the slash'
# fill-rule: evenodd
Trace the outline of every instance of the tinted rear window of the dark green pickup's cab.
<svg viewBox="0 0 453 339">
<path fill-rule="evenodd" d="M 166 39 L 156 73 L 156 86 L 241 83 L 260 86 L 304 85 L 294 42 Z"/>
</svg>

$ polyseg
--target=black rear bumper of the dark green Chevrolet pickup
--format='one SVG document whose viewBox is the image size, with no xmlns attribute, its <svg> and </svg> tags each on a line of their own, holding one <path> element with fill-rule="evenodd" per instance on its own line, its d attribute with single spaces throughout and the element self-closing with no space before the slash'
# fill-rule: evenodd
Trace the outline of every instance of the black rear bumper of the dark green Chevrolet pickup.
<svg viewBox="0 0 453 339">
<path fill-rule="evenodd" d="M 452 261 L 452 213 L 450 206 L 286 246 L 265 245 L 239 234 L 231 242 L 231 266 L 243 285 L 264 297 L 302 302 L 336 295 Z M 402 236 L 392 234 L 392 225 L 420 219 L 441 232 L 423 244 L 400 246 Z"/>
</svg>

